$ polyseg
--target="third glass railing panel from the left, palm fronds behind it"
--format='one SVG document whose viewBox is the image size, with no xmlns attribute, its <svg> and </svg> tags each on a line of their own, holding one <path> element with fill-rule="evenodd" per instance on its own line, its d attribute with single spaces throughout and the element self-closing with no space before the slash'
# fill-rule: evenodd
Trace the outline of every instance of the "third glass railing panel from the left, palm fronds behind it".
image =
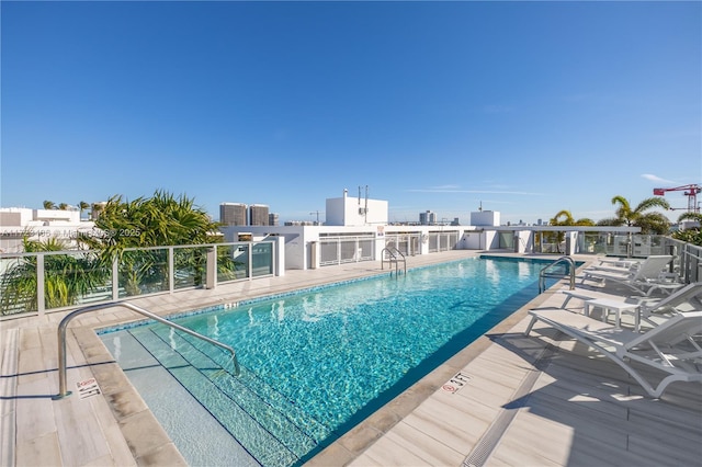
<svg viewBox="0 0 702 467">
<path fill-rule="evenodd" d="M 126 250 L 118 260 L 118 296 L 166 292 L 168 272 L 168 248 Z"/>
</svg>

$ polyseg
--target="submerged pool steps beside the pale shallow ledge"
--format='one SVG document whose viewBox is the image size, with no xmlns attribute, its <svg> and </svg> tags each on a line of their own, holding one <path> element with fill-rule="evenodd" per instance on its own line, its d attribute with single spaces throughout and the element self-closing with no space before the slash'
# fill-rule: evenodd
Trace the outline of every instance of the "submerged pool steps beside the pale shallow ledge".
<svg viewBox="0 0 702 467">
<path fill-rule="evenodd" d="M 224 371 L 180 334 L 147 328 L 135 329 L 132 334 L 262 465 L 295 464 L 316 445 L 241 378 Z"/>
</svg>

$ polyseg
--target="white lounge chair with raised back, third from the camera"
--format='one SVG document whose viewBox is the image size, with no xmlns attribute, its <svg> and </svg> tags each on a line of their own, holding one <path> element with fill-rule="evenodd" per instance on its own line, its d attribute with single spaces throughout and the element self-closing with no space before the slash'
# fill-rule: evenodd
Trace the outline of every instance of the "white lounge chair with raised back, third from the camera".
<svg viewBox="0 0 702 467">
<path fill-rule="evenodd" d="M 585 281 L 609 281 L 625 285 L 634 291 L 650 295 L 654 291 L 675 292 L 684 286 L 677 275 L 666 273 L 664 269 L 672 261 L 669 254 L 650 255 L 637 267 L 627 272 L 616 273 L 587 269 L 582 272 Z"/>
</svg>

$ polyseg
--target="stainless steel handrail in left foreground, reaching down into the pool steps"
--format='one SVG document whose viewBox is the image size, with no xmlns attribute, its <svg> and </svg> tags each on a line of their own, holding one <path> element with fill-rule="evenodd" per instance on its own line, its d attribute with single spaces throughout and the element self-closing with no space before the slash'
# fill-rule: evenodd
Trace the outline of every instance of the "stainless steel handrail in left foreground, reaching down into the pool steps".
<svg viewBox="0 0 702 467">
<path fill-rule="evenodd" d="M 104 308 L 111 308 L 111 307 L 128 308 L 132 311 L 136 311 L 160 323 L 170 326 L 171 328 L 178 329 L 179 331 L 185 332 L 186 334 L 190 334 L 194 338 L 201 339 L 205 342 L 210 342 L 213 345 L 216 345 L 218 348 L 226 350 L 231 354 L 231 361 L 234 362 L 235 376 L 239 376 L 239 374 L 241 373 L 241 369 L 239 368 L 239 362 L 237 361 L 237 355 L 234 352 L 234 349 L 231 349 L 229 345 L 223 344 L 222 342 L 215 341 L 214 339 L 210 339 L 206 335 L 202 335 L 188 328 L 183 328 L 180 324 L 176 324 L 174 322 L 169 321 L 165 318 L 161 318 L 160 316 L 155 315 L 151 311 L 147 311 L 144 308 L 137 307 L 136 305 L 127 304 L 125 301 L 111 301 L 107 304 L 92 305 L 89 307 L 79 308 L 75 311 L 71 311 L 68 315 L 66 315 L 64 319 L 61 319 L 61 322 L 58 324 L 58 395 L 53 397 L 54 400 L 63 399 L 67 396 L 70 396 L 71 394 L 71 391 L 67 390 L 66 388 L 66 328 L 68 327 L 68 322 L 71 319 L 76 318 L 78 315 L 82 315 L 90 311 L 97 311 Z"/>
</svg>

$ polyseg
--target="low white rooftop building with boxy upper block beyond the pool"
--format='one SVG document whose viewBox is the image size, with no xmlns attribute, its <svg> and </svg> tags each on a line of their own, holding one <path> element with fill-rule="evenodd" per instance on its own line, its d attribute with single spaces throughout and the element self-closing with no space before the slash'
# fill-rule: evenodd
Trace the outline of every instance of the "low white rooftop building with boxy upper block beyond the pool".
<svg viewBox="0 0 702 467">
<path fill-rule="evenodd" d="M 597 248 L 602 252 L 625 255 L 626 249 L 619 248 L 616 241 L 629 241 L 630 235 L 639 230 L 637 227 L 501 226 L 499 212 L 482 209 L 471 213 L 469 226 L 460 226 L 457 220 L 452 225 L 389 225 L 386 201 L 351 197 L 344 190 L 343 197 L 327 200 L 325 225 L 228 226 L 222 231 L 226 242 L 274 241 L 280 265 L 276 270 L 284 271 L 382 261 L 387 258 L 386 249 L 397 250 L 405 257 L 464 249 L 544 252 L 551 248 L 551 243 L 545 243 L 553 237 L 548 232 L 557 231 L 565 234 L 565 241 L 554 248 L 565 254 L 597 252 L 589 249 L 598 241 Z M 586 234 L 599 239 L 586 239 Z M 602 238 L 616 241 L 603 244 Z M 632 252 L 634 255 L 650 254 Z"/>
</svg>

